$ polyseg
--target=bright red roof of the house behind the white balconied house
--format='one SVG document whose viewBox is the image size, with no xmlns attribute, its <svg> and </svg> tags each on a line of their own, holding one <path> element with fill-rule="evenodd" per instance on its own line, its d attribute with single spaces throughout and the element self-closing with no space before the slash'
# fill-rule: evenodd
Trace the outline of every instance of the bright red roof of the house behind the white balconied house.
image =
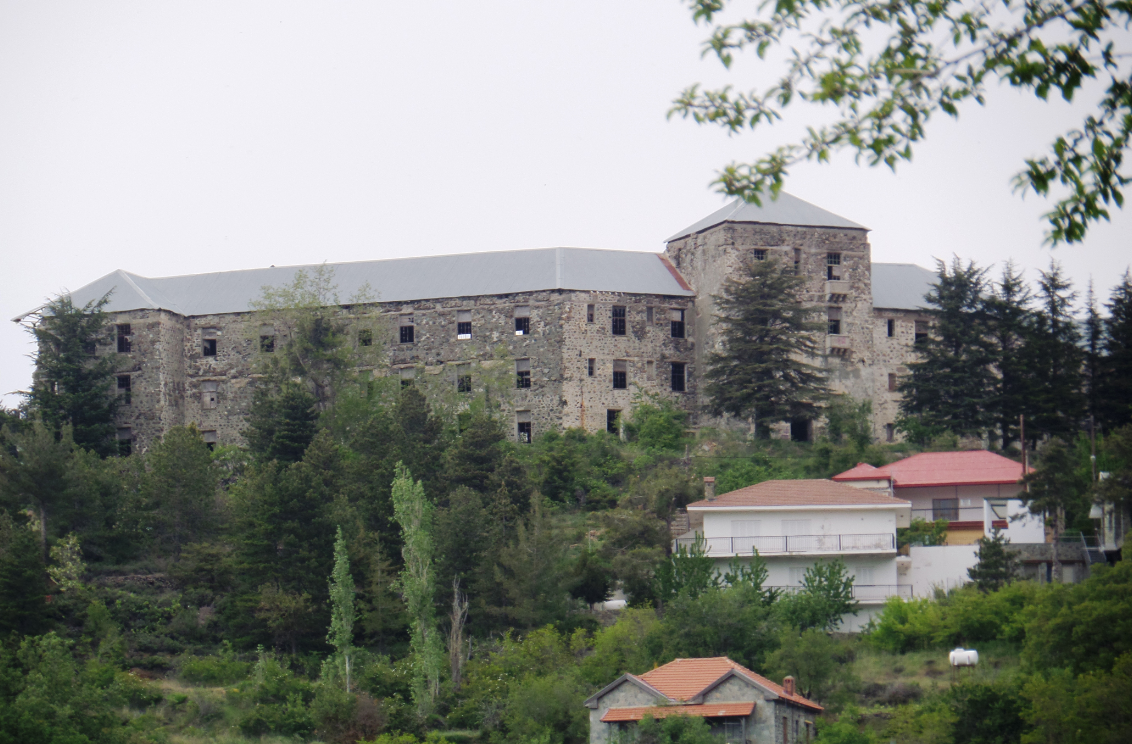
<svg viewBox="0 0 1132 744">
<path fill-rule="evenodd" d="M 1022 478 L 1022 464 L 986 450 L 924 452 L 881 468 L 861 463 L 833 476 L 837 481 L 882 478 L 891 479 L 894 488 L 1013 485 Z"/>
</svg>

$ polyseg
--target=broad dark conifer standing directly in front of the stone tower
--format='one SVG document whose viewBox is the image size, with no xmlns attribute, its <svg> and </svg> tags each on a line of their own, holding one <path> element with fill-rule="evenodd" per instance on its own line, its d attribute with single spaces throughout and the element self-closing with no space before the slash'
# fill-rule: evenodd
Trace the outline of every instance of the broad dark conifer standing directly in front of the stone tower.
<svg viewBox="0 0 1132 744">
<path fill-rule="evenodd" d="M 822 356 L 814 309 L 803 302 L 805 280 L 772 258 L 749 262 L 714 296 L 721 348 L 707 356 L 705 392 L 715 416 L 757 421 L 814 419 L 825 397 L 824 374 L 807 359 Z"/>
</svg>

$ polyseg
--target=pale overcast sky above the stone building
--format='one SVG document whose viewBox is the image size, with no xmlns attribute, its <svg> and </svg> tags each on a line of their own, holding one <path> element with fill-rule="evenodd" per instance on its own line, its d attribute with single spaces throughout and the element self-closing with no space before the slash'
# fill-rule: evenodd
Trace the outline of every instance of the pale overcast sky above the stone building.
<svg viewBox="0 0 1132 744">
<path fill-rule="evenodd" d="M 717 169 L 813 116 L 740 137 L 667 120 L 692 83 L 773 79 L 702 59 L 705 36 L 678 0 L 0 0 L 0 393 L 31 382 L 8 319 L 115 268 L 662 250 L 726 203 Z M 995 89 L 933 120 L 895 176 L 844 156 L 787 190 L 869 226 L 874 260 L 1013 258 L 1032 277 L 1053 255 L 1107 298 L 1132 215 L 1050 254 L 1050 204 L 1010 187 L 1090 93 Z"/>
</svg>

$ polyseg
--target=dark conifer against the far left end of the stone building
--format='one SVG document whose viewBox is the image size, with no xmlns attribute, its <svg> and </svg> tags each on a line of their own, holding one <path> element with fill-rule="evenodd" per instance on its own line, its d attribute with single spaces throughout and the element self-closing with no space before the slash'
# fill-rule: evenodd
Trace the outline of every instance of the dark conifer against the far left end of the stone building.
<svg viewBox="0 0 1132 744">
<path fill-rule="evenodd" d="M 32 325 L 36 341 L 35 377 L 27 393 L 32 412 L 59 433 L 71 426 L 75 444 L 102 456 L 117 453 L 114 414 L 118 397 L 111 383 L 118 367 L 115 354 L 97 356 L 105 339 L 108 318 L 97 301 L 77 308 L 70 297 L 49 302 Z"/>
</svg>

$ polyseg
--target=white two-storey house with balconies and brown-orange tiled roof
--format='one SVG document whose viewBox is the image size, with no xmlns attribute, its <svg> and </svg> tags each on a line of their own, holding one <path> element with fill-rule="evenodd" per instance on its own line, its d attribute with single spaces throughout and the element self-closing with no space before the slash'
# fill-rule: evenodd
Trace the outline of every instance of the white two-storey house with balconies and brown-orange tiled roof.
<svg viewBox="0 0 1132 744">
<path fill-rule="evenodd" d="M 704 481 L 706 498 L 688 505 L 693 530 L 676 541 L 691 546 L 702 538 L 719 571 L 757 550 L 766 562 L 766 585 L 795 591 L 806 568 L 841 558 L 861 604 L 857 616 L 844 619 L 850 631 L 889 597 L 911 596 L 897 578 L 897 528 L 911 521 L 907 501 L 832 480 L 769 480 L 717 497 L 714 479 Z"/>
</svg>

